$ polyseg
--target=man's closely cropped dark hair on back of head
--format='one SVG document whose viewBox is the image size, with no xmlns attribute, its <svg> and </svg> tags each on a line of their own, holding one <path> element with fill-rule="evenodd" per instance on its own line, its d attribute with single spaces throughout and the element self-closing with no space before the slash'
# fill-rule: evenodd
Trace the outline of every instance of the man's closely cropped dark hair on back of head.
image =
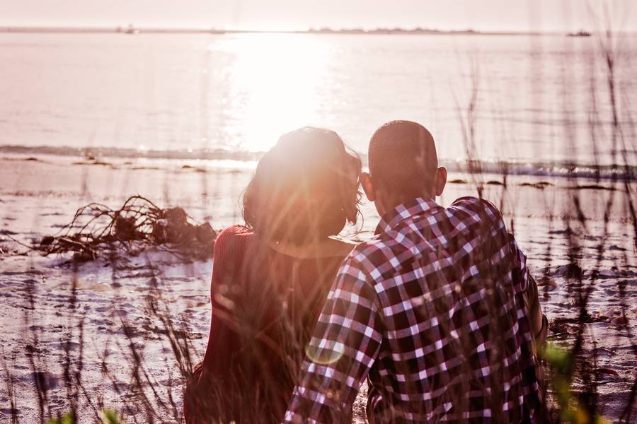
<svg viewBox="0 0 637 424">
<path fill-rule="evenodd" d="M 434 184 L 437 167 L 433 136 L 416 122 L 387 122 L 369 141 L 374 186 L 397 196 L 421 196 Z"/>
</svg>

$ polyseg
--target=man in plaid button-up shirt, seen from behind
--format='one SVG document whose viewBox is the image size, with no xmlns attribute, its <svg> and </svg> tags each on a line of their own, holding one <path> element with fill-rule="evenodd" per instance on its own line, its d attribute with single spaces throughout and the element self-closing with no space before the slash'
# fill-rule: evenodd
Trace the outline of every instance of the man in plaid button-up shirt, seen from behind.
<svg viewBox="0 0 637 424">
<path fill-rule="evenodd" d="M 366 377 L 371 423 L 539 420 L 546 319 L 526 257 L 488 201 L 437 205 L 446 180 L 420 124 L 372 136 L 362 186 L 382 218 L 338 271 L 287 423 L 350 420 Z"/>
</svg>

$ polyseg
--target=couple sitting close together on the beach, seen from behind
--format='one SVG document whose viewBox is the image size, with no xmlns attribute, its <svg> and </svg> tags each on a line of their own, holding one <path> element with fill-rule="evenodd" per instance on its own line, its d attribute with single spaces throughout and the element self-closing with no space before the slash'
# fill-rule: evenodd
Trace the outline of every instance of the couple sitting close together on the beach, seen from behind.
<svg viewBox="0 0 637 424">
<path fill-rule="evenodd" d="M 361 171 L 338 134 L 309 127 L 259 161 L 245 225 L 214 246 L 186 422 L 351 422 L 366 379 L 369 423 L 542 422 L 546 318 L 498 209 L 436 204 L 447 170 L 415 122 L 381 126 Z M 334 236 L 360 185 L 381 219 L 354 245 Z"/>
</svg>

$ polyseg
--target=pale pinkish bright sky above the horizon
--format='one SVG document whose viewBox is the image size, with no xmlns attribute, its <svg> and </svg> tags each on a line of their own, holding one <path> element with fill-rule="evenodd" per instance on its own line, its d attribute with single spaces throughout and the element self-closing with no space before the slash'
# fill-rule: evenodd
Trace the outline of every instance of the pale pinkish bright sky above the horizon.
<svg viewBox="0 0 637 424">
<path fill-rule="evenodd" d="M 0 25 L 573 31 L 599 28 L 604 4 L 615 29 L 637 30 L 633 0 L 0 0 Z"/>
</svg>

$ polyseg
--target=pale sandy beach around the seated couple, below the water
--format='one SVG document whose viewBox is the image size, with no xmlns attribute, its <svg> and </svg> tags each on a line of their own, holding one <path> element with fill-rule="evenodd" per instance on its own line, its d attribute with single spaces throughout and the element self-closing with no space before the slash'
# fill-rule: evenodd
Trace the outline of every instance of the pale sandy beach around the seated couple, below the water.
<svg viewBox="0 0 637 424">
<path fill-rule="evenodd" d="M 119 411 L 126 422 L 149 422 L 149 413 L 155 422 L 180 420 L 185 380 L 178 364 L 184 360 L 176 358 L 171 343 L 187 346 L 192 363 L 202 358 L 210 323 L 212 258 L 185 264 L 149 249 L 115 261 L 73 264 L 69 257 L 25 254 L 26 248 L 14 239 L 30 245 L 69 223 L 84 204 L 117 207 L 134 194 L 161 207 L 183 207 L 195 220 L 222 230 L 241 223 L 239 196 L 253 166 L 239 161 L 0 157 L 1 423 L 11 422 L 11 402 L 21 423 L 38 422 L 37 387 L 45 389 L 45 416 L 68 411 L 69 399 L 74 399 L 80 423 L 93 422 L 102 407 Z M 541 284 L 551 341 L 573 343 L 575 298 L 590 290 L 583 355 L 592 357 L 593 349 L 597 353 L 593 366 L 598 370 L 599 413 L 618 419 L 637 377 L 637 254 L 624 183 L 521 175 L 507 177 L 503 185 L 501 175 L 478 177 L 485 183 L 486 199 L 504 211 Z M 471 177 L 452 174 L 449 180 L 440 204 L 476 195 Z M 582 222 L 573 212 L 573 199 L 586 217 Z M 609 199 L 614 201 L 604 223 Z M 370 237 L 379 220 L 370 204 L 362 213 L 362 228 L 345 231 L 354 240 Z M 571 260 L 583 272 L 581 284 L 571 278 Z M 71 390 L 65 384 L 69 379 L 76 379 L 73 387 L 81 389 Z M 576 380 L 574 389 L 582 383 Z M 155 406 L 153 411 L 142 406 L 144 398 Z M 360 397 L 356 423 L 365 420 L 362 405 Z"/>
</svg>

